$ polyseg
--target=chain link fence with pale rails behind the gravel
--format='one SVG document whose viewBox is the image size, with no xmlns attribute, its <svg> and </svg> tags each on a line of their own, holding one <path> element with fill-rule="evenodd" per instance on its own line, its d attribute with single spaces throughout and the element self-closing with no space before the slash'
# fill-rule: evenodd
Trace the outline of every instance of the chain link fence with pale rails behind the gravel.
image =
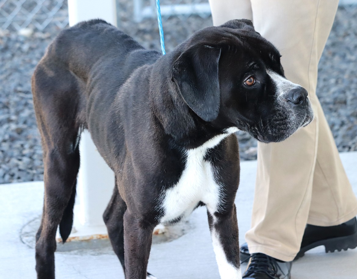
<svg viewBox="0 0 357 279">
<path fill-rule="evenodd" d="M 156 17 L 155 0 L 117 2 L 118 6 L 133 6 L 131 18 L 135 22 Z M 211 14 L 207 0 L 161 0 L 160 4 L 163 17 L 198 15 L 207 18 Z M 357 0 L 340 0 L 340 5 L 346 9 L 356 9 Z M 120 22 L 120 17 L 118 20 Z M 19 31 L 30 27 L 42 31 L 49 25 L 60 29 L 68 25 L 67 0 L 0 0 L 0 29 Z"/>
</svg>

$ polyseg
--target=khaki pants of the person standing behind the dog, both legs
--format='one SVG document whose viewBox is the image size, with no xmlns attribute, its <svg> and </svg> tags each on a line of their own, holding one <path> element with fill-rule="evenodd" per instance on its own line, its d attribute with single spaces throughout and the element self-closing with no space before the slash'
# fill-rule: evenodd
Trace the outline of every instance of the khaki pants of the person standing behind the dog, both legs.
<svg viewBox="0 0 357 279">
<path fill-rule="evenodd" d="M 270 2 L 252 0 L 253 23 L 280 50 L 286 77 L 307 89 L 316 118 L 282 143 L 258 144 L 252 228 L 246 240 L 251 253 L 289 261 L 300 249 L 307 221 L 339 224 L 356 215 L 357 203 L 316 97 L 318 61 L 338 1 Z"/>
</svg>

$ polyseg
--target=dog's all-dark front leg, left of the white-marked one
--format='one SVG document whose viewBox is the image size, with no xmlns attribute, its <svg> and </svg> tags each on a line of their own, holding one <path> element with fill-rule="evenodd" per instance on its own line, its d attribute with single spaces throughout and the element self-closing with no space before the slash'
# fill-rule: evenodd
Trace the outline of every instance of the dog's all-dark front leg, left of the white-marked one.
<svg viewBox="0 0 357 279">
<path fill-rule="evenodd" d="M 146 279 L 147 262 L 156 224 L 144 221 L 129 211 L 124 214 L 124 257 L 125 278 Z M 149 277 L 150 278 L 150 277 Z"/>
</svg>

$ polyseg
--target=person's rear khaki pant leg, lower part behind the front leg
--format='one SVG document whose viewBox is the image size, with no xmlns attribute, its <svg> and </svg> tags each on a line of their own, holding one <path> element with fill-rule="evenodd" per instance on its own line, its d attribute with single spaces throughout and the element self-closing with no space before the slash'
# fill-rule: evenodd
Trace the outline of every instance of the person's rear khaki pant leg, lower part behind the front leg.
<svg viewBox="0 0 357 279">
<path fill-rule="evenodd" d="M 322 109 L 318 110 L 322 119 Z M 324 119 L 325 120 L 325 119 Z M 308 224 L 335 226 L 357 215 L 357 200 L 326 121 L 320 120 Z"/>
</svg>

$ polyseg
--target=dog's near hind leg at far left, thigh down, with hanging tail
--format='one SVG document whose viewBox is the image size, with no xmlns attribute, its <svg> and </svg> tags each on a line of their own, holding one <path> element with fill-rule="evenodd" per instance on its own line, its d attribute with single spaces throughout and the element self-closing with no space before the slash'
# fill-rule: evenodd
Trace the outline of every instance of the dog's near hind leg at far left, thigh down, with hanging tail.
<svg viewBox="0 0 357 279">
<path fill-rule="evenodd" d="M 49 74 L 50 73 L 50 74 Z M 37 278 L 55 277 L 55 235 L 62 240 L 72 227 L 76 177 L 79 169 L 78 96 L 74 77 L 56 69 L 36 68 L 32 92 L 44 158 L 44 207 L 36 234 Z"/>
</svg>

